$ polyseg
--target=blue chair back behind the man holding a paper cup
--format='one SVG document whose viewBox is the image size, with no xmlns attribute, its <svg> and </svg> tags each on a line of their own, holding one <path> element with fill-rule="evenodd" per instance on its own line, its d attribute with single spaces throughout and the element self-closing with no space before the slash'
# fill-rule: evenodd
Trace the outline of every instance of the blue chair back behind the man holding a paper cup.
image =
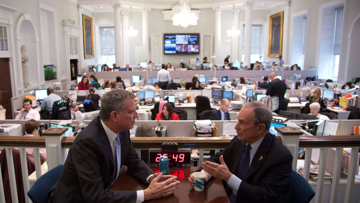
<svg viewBox="0 0 360 203">
<path fill-rule="evenodd" d="M 315 196 L 309 182 L 294 170 L 291 173 L 290 187 L 291 203 L 308 203 Z"/>
</svg>

